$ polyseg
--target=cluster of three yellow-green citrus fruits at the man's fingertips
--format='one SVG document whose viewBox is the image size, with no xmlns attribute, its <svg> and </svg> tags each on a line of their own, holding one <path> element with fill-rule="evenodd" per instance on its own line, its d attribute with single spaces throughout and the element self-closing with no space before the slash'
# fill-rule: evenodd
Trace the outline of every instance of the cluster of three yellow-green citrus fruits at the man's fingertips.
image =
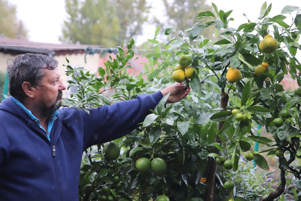
<svg viewBox="0 0 301 201">
<path fill-rule="evenodd" d="M 191 61 L 190 55 L 180 56 L 178 60 L 179 64 L 175 66 L 174 72 L 172 73 L 172 79 L 179 83 L 184 82 L 185 78 L 191 79 L 193 72 L 196 73 L 195 68 L 189 67 Z"/>
</svg>

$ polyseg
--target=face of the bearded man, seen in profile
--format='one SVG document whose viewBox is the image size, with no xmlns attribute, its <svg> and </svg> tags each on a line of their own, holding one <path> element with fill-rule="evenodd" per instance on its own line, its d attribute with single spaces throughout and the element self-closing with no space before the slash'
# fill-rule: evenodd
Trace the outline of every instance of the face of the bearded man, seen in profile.
<svg viewBox="0 0 301 201">
<path fill-rule="evenodd" d="M 43 86 L 37 87 L 35 98 L 43 115 L 50 116 L 61 106 L 62 90 L 65 90 L 66 86 L 60 79 L 61 75 L 57 68 L 43 71 L 45 73 L 41 80 Z"/>
</svg>

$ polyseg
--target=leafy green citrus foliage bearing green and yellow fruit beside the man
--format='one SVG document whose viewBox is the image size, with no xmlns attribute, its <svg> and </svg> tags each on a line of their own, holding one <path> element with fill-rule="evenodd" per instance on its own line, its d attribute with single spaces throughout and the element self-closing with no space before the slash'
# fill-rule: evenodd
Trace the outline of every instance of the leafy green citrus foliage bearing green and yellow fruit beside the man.
<svg viewBox="0 0 301 201">
<path fill-rule="evenodd" d="M 232 10 L 201 12 L 185 31 L 155 31 L 145 73 L 126 71 L 134 59 L 131 40 L 118 47 L 98 76 L 67 65 L 78 92 L 65 106 L 91 108 L 158 91 L 185 82 L 191 92 L 166 105 L 164 96 L 141 125 L 127 136 L 91 147 L 82 160 L 80 200 L 284 200 L 300 192 L 301 89 L 284 90 L 285 75 L 301 85 L 296 58 L 300 8 L 285 6 L 269 16 L 264 2 L 255 22 L 228 27 Z M 284 22 L 291 15 L 291 23 Z M 202 31 L 215 26 L 223 39 L 211 41 Z M 176 32 L 167 44 L 160 37 Z M 68 61 L 68 60 L 67 60 Z M 68 62 L 69 63 L 69 62 Z M 113 90 L 112 96 L 106 92 Z M 267 131 L 256 135 L 256 127 Z M 263 150 L 254 150 L 254 144 Z M 119 155 L 120 154 L 120 155 Z M 279 181 L 268 180 L 268 156 L 277 158 Z M 256 176 L 248 161 L 266 173 Z M 273 186 L 276 188 L 273 189 Z"/>
</svg>

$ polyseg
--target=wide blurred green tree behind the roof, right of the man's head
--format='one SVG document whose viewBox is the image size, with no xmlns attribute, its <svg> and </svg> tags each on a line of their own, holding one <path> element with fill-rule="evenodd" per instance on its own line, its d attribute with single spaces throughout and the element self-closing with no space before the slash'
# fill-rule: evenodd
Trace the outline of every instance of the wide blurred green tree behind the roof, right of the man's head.
<svg viewBox="0 0 301 201">
<path fill-rule="evenodd" d="M 149 6 L 145 0 L 66 0 L 66 11 L 61 41 L 115 47 L 142 33 Z"/>
</svg>

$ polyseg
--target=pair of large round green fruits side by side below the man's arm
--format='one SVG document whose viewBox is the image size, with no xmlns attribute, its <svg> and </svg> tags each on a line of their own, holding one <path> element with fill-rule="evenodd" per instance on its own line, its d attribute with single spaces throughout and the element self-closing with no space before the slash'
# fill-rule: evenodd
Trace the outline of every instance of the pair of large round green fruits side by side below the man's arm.
<svg viewBox="0 0 301 201">
<path fill-rule="evenodd" d="M 154 158 L 151 162 L 148 158 L 139 158 L 135 162 L 135 167 L 142 174 L 151 169 L 156 175 L 163 174 L 167 168 L 166 162 L 162 158 Z"/>
</svg>

